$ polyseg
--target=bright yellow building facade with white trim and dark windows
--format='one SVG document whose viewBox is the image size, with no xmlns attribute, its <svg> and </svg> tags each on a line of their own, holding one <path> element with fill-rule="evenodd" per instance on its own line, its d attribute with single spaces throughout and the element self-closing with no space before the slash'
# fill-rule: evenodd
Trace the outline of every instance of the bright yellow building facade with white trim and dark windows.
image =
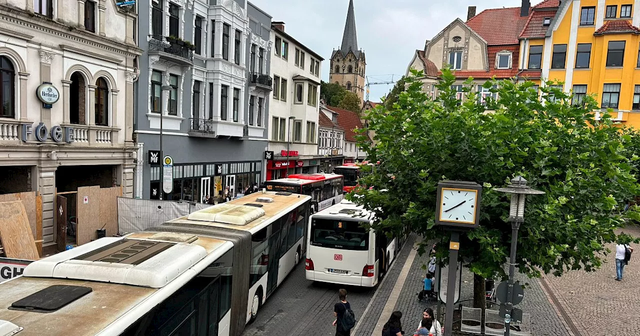
<svg viewBox="0 0 640 336">
<path fill-rule="evenodd" d="M 563 82 L 574 100 L 594 95 L 615 120 L 640 128 L 640 0 L 563 0 L 548 23 L 542 77 Z"/>
</svg>

